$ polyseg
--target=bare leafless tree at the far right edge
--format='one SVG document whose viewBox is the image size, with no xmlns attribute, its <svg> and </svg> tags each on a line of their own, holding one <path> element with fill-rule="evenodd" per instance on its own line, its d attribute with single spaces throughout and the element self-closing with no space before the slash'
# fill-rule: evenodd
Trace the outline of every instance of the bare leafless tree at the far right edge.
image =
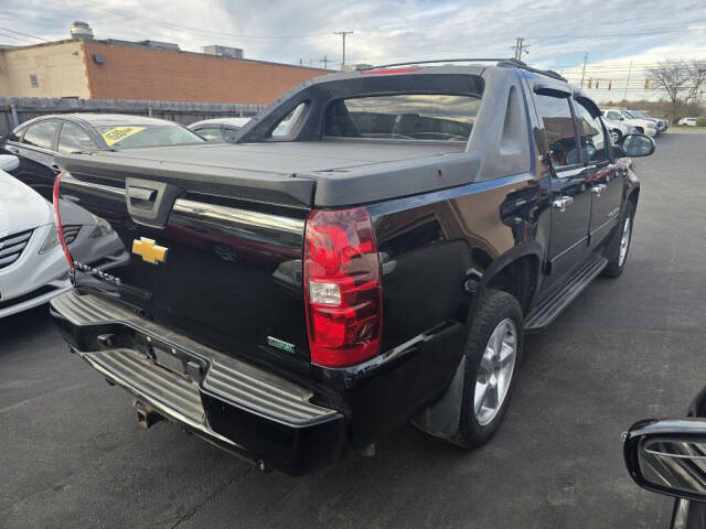
<svg viewBox="0 0 706 529">
<path fill-rule="evenodd" d="M 648 78 L 670 99 L 674 123 L 684 107 L 699 101 L 706 87 L 706 61 L 661 61 L 650 68 Z"/>
</svg>

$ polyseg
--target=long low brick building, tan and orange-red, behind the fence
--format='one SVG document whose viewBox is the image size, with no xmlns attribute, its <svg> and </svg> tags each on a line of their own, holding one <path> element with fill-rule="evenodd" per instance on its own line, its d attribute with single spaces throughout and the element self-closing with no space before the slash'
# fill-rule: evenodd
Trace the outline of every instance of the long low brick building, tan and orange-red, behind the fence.
<svg viewBox="0 0 706 529">
<path fill-rule="evenodd" d="M 289 88 L 327 73 L 183 52 L 176 45 L 153 41 L 84 35 L 30 46 L 0 46 L 0 96 L 268 104 Z"/>
</svg>

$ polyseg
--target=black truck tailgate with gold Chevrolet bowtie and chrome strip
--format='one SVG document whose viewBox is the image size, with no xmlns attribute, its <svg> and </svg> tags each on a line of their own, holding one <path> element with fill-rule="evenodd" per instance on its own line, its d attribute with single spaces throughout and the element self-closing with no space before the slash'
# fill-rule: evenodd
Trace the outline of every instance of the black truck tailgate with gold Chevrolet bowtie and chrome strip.
<svg viewBox="0 0 706 529">
<path fill-rule="evenodd" d="M 100 154 L 60 163 L 62 226 L 78 223 L 76 209 L 95 219 L 68 245 L 78 291 L 226 354 L 308 364 L 301 258 L 313 182 L 193 179 Z"/>
</svg>

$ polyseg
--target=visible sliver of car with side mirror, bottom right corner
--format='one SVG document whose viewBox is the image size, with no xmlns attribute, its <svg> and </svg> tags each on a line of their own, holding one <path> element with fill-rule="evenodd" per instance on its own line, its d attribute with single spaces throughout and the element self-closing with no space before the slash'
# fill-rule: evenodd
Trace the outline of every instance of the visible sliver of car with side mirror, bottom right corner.
<svg viewBox="0 0 706 529">
<path fill-rule="evenodd" d="M 706 388 L 685 418 L 634 423 L 623 434 L 623 456 L 638 485 L 676 498 L 672 529 L 706 527 Z"/>
</svg>

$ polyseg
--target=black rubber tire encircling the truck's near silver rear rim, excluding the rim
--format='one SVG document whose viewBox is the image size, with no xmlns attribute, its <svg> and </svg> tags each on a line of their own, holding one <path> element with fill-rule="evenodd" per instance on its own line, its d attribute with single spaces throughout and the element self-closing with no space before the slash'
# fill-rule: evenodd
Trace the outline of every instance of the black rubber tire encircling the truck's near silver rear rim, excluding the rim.
<svg viewBox="0 0 706 529">
<path fill-rule="evenodd" d="M 509 389 L 502 400 L 502 404 L 494 418 L 486 424 L 481 424 L 475 415 L 474 397 L 475 382 L 481 368 L 481 360 L 489 345 L 493 331 L 504 322 L 512 320 L 515 325 L 515 360 L 510 377 Z M 470 334 L 466 343 L 466 374 L 463 379 L 463 396 L 461 398 L 461 417 L 459 429 L 450 442 L 464 449 L 472 449 L 485 444 L 500 428 L 503 421 L 514 382 L 517 368 L 522 360 L 524 347 L 524 324 L 522 307 L 517 300 L 499 290 L 489 290 L 482 300 L 479 300 L 478 309 L 471 323 Z"/>
</svg>

